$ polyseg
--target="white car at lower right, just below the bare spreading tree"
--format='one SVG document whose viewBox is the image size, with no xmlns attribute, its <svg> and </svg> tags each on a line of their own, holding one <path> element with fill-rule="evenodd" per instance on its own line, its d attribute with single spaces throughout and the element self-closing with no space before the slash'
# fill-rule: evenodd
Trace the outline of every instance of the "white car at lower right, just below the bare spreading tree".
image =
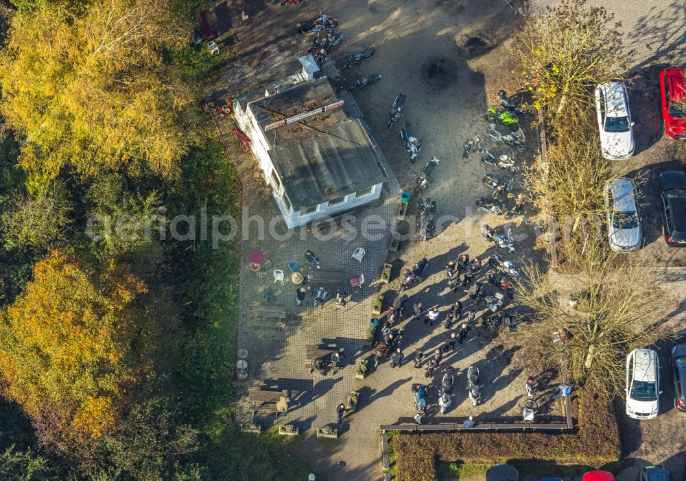
<svg viewBox="0 0 686 481">
<path fill-rule="evenodd" d="M 626 356 L 626 415 L 653 419 L 659 410 L 660 363 L 652 349 L 634 349 Z"/>
</svg>

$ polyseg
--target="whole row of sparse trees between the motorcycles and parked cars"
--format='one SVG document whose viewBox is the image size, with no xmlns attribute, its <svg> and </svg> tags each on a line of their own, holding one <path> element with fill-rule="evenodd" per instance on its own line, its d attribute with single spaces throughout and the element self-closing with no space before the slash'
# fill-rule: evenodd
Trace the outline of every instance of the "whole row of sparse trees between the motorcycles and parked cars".
<svg viewBox="0 0 686 481">
<path fill-rule="evenodd" d="M 524 21 L 514 38 L 517 73 L 541 109 L 547 165 L 527 169 L 536 207 L 562 227 L 559 268 L 526 267 L 516 289 L 533 322 L 521 330 L 527 352 L 549 364 L 566 353 L 574 381 L 616 395 L 626 354 L 670 336 L 661 270 L 643 257 L 614 253 L 604 233 L 604 185 L 614 178 L 595 123 L 595 86 L 624 80 L 628 56 L 612 14 L 586 0 L 563 0 Z M 565 340 L 559 341 L 563 333 Z M 528 354 L 530 357 L 530 355 Z"/>
</svg>

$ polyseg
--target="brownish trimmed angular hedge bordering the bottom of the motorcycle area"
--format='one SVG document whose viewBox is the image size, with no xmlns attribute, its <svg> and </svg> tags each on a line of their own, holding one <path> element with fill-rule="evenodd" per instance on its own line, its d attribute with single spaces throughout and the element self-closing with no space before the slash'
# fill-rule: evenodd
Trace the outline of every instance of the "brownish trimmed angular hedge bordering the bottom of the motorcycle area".
<svg viewBox="0 0 686 481">
<path fill-rule="evenodd" d="M 543 432 L 454 432 L 397 434 L 393 438 L 397 481 L 434 481 L 436 460 L 507 462 L 546 460 L 601 467 L 619 460 L 619 430 L 612 402 L 589 389 L 578 390 L 578 429 Z"/>
</svg>

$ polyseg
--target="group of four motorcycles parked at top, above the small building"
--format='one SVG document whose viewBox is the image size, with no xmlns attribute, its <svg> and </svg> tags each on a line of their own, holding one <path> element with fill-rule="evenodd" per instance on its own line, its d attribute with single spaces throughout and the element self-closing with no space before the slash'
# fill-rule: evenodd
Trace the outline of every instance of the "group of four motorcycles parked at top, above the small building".
<svg viewBox="0 0 686 481">
<path fill-rule="evenodd" d="M 338 27 L 338 19 L 333 18 L 333 16 L 329 14 L 322 14 L 320 12 L 319 16 L 316 16 L 311 20 L 302 21 L 298 23 L 297 26 L 298 33 L 300 34 L 317 34 L 317 37 L 312 40 L 312 45 L 307 51 L 310 53 L 314 52 L 314 59 L 320 67 L 326 61 L 331 49 L 343 42 L 343 34 L 335 31 L 335 27 Z M 322 36 L 322 32 L 324 31 L 327 33 Z M 346 61 L 342 69 L 344 70 L 353 67 L 354 65 L 359 65 L 363 60 L 369 60 L 376 56 L 376 53 L 377 50 L 374 47 L 369 47 L 357 54 L 346 54 Z M 381 80 L 381 74 L 379 73 L 370 75 L 369 77 L 363 77 L 357 73 L 355 81 L 348 87 L 348 91 L 362 89 L 365 86 L 379 82 L 379 80 Z"/>
</svg>

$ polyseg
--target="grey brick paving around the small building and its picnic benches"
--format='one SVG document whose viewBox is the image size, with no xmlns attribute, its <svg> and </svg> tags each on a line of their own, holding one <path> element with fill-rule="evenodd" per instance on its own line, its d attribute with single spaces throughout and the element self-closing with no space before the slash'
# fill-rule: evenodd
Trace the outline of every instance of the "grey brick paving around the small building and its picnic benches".
<svg viewBox="0 0 686 481">
<path fill-rule="evenodd" d="M 238 93 L 259 88 L 272 80 L 279 80 L 287 75 L 296 73 L 300 69 L 294 52 L 279 51 L 273 47 L 270 54 L 274 62 L 262 62 L 257 71 L 250 72 L 241 62 L 234 62 L 222 74 L 222 88 L 211 95 L 215 102 L 229 101 Z M 268 47 L 268 48 L 272 48 Z M 271 50 L 270 50 L 271 51 Z M 329 76 L 338 75 L 335 67 L 329 62 L 324 72 Z M 355 103 L 355 99 L 347 92 L 342 93 L 345 101 L 344 110 L 351 117 L 361 118 L 362 113 Z M 215 115 L 215 117 L 217 117 Z M 242 149 L 242 145 L 230 131 L 232 121 L 215 118 L 220 129 L 220 135 L 226 145 L 229 159 L 234 163 L 243 185 L 243 207 L 248 208 L 250 216 L 265 219 L 265 224 L 272 222 L 279 234 L 286 232 L 285 224 L 276 220 L 277 213 L 271 198 L 260 199 L 255 195 L 256 189 L 263 185 L 261 172 L 252 155 Z M 368 130 L 372 143 L 378 150 L 368 125 L 362 121 Z M 383 159 L 383 154 L 381 154 Z M 384 167 L 389 174 L 389 180 L 384 184 L 381 200 L 375 206 L 364 210 L 365 215 L 378 215 L 379 218 L 390 222 L 396 212 L 399 184 L 383 159 Z M 244 218 L 245 218 L 244 214 Z M 359 232 L 361 220 L 355 223 Z M 272 238 L 268 229 L 265 235 L 260 235 L 256 222 L 248 226 L 247 233 L 242 233 L 241 247 L 241 276 L 239 286 L 239 335 L 238 348 L 248 349 L 248 379 L 238 382 L 237 386 L 237 421 L 246 422 L 253 418 L 257 410 L 247 399 L 248 388 L 261 386 L 269 389 L 288 390 L 292 398 L 287 417 L 279 418 L 279 422 L 292 423 L 300 429 L 318 428 L 335 422 L 335 408 L 344 402 L 353 389 L 357 355 L 362 351 L 362 342 L 369 320 L 372 318 L 372 304 L 379 292 L 379 285 L 374 283 L 379 277 L 383 263 L 388 255 L 390 234 L 381 233 L 381 239 L 368 240 L 358 235 L 355 239 L 343 239 L 339 234 L 332 235 L 327 241 L 315 239 L 305 229 L 292 232 L 292 236 L 285 239 Z M 284 236 L 285 237 L 285 236 Z M 362 247 L 366 255 L 362 263 L 351 259 L 353 250 Z M 272 262 L 268 272 L 252 272 L 248 267 L 247 255 L 250 250 L 259 248 Z M 305 305 L 296 306 L 296 287 L 289 281 L 288 263 L 295 259 L 300 263 L 301 272 L 307 274 L 304 254 L 306 250 L 313 250 L 321 259 L 322 269 L 341 269 L 344 272 L 345 283 L 341 292 L 350 295 L 350 301 L 344 309 L 336 309 L 333 302 L 324 307 L 314 308 L 314 296 L 319 285 L 311 285 L 307 293 Z M 273 269 L 286 272 L 286 283 L 274 283 Z M 366 283 L 362 290 L 351 292 L 347 281 L 351 277 L 364 274 Z M 324 285 L 335 298 L 335 287 Z M 253 302 L 263 302 L 266 288 L 272 288 L 276 294 L 275 305 L 285 307 L 289 320 L 286 329 L 269 329 L 252 327 L 250 323 L 250 308 Z M 348 357 L 349 365 L 336 375 L 322 376 L 319 373 L 310 374 L 305 365 L 305 347 L 308 344 L 331 344 L 343 348 Z M 273 405 L 270 409 L 257 410 L 257 423 L 268 427 L 274 424 Z"/>
</svg>

